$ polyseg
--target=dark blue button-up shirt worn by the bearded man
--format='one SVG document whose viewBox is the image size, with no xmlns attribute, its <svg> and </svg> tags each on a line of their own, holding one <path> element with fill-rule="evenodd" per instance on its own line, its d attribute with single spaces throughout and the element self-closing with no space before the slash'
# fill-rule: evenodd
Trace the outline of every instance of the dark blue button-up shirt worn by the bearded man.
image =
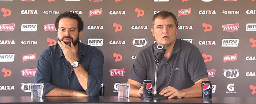
<svg viewBox="0 0 256 104">
<path fill-rule="evenodd" d="M 101 50 L 78 42 L 78 58 L 89 73 L 87 89 L 84 90 L 70 63 L 66 60 L 59 44 L 45 49 L 37 62 L 34 83 L 45 83 L 43 95 L 54 87 L 86 92 L 98 96 L 102 82 L 104 55 Z"/>
</svg>

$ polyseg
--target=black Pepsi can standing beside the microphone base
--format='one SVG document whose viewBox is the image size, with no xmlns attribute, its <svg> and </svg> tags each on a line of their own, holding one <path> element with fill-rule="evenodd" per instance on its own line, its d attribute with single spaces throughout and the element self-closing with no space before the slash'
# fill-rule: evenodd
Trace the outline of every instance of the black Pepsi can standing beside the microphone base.
<svg viewBox="0 0 256 104">
<path fill-rule="evenodd" d="M 143 98 L 151 99 L 153 94 L 152 80 L 143 80 L 142 88 Z"/>
</svg>

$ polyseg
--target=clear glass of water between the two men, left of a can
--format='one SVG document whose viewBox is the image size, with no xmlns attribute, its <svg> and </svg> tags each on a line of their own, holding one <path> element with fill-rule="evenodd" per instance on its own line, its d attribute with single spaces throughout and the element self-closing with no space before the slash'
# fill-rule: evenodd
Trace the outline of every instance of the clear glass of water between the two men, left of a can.
<svg viewBox="0 0 256 104">
<path fill-rule="evenodd" d="M 130 83 L 117 83 L 118 98 L 129 98 Z"/>
</svg>

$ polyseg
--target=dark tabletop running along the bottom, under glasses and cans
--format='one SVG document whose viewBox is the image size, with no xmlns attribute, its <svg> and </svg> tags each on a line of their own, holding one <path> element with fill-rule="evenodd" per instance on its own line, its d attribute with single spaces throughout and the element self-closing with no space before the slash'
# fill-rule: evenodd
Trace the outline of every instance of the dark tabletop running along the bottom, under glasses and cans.
<svg viewBox="0 0 256 104">
<path fill-rule="evenodd" d="M 0 104 L 256 104 L 255 97 L 213 97 L 211 101 L 201 98 L 174 98 L 146 100 L 138 97 L 118 99 L 116 96 L 100 97 L 44 97 L 43 99 L 31 99 L 29 96 L 9 97 L 1 96 Z"/>
</svg>

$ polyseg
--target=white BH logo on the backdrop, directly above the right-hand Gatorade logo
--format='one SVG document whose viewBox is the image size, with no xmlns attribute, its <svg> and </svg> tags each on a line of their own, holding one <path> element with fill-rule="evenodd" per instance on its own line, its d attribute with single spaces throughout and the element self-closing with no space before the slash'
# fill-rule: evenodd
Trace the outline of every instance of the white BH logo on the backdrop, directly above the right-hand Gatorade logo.
<svg viewBox="0 0 256 104">
<path fill-rule="evenodd" d="M 223 75 L 229 79 L 234 79 L 239 76 L 239 69 L 223 69 L 223 71 Z"/>
</svg>

